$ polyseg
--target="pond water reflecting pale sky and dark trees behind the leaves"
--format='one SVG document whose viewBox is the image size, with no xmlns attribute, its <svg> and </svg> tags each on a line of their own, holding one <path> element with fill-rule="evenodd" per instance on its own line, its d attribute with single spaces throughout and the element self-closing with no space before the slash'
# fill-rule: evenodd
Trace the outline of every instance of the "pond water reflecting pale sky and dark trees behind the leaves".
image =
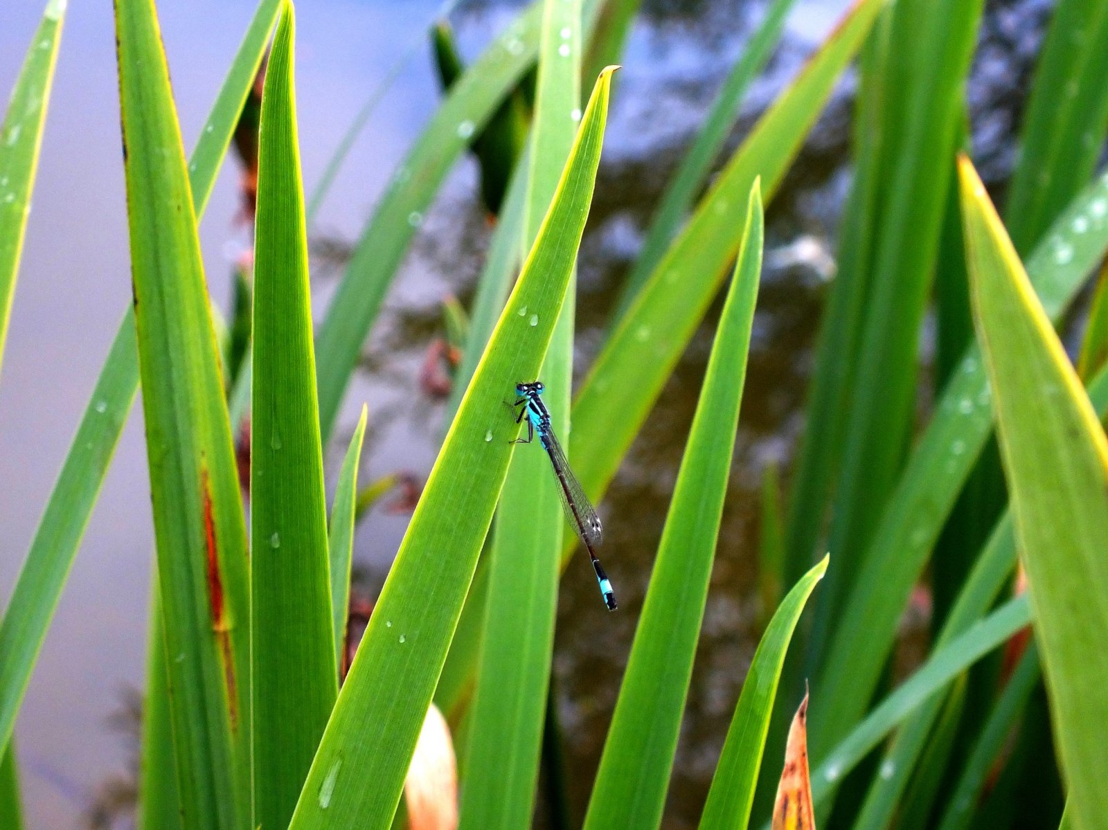
<svg viewBox="0 0 1108 830">
<path fill-rule="evenodd" d="M 40 3 L 0 8 L 0 90 L 11 88 Z M 253 12 L 250 2 L 160 4 L 186 146 L 192 146 Z M 455 14 L 469 55 L 515 4 L 463 4 Z M 848 6 L 801 0 L 783 47 L 753 88 L 735 141 Z M 438 2 L 321 0 L 298 10 L 297 92 L 305 180 L 317 181 L 353 112 L 414 44 Z M 985 173 L 1003 177 L 1010 135 L 1038 42 L 1045 2 L 989 3 L 973 88 Z M 589 229 L 582 250 L 578 373 L 599 344 L 619 280 L 650 206 L 681 148 L 739 54 L 761 2 L 646 3 L 624 60 Z M 0 596 L 10 593 L 39 512 L 69 448 L 125 304 L 130 301 L 110 3 L 69 11 L 47 124 L 23 266 L 0 377 Z M 693 827 L 753 650 L 752 587 L 758 489 L 763 467 L 787 465 L 801 427 L 811 344 L 849 185 L 849 81 L 813 131 L 768 214 L 767 269 L 731 484 L 712 573 L 689 710 L 675 765 L 666 827 Z M 341 249 L 357 234 L 406 147 L 438 100 L 427 50 L 382 101 L 320 212 L 316 236 Z M 208 281 L 226 305 L 232 264 L 248 246 L 238 216 L 237 168 L 228 164 L 202 225 Z M 469 296 L 489 229 L 464 162 L 427 216 L 351 386 L 329 481 L 362 400 L 371 430 L 368 480 L 394 470 L 425 478 L 437 451 L 441 403 L 418 375 L 441 329 L 440 303 Z M 799 243 L 799 244 L 798 244 Z M 317 269 L 318 310 L 334 270 Z M 572 809 L 587 800 L 646 590 L 665 508 L 691 420 L 712 321 L 709 314 L 632 450 L 601 512 L 605 564 L 620 613 L 596 597 L 584 559 L 562 582 L 555 675 L 565 731 Z M 31 682 L 17 736 L 29 827 L 78 827 L 98 793 L 125 799 L 132 746 L 113 714 L 142 686 L 153 533 L 145 447 L 135 414 L 123 433 L 84 543 Z M 356 561 L 380 585 L 406 515 L 373 512 L 359 527 Z M 117 720 L 119 718 L 115 718 Z M 124 721 L 126 717 L 122 718 Z M 113 783 L 114 782 L 114 783 Z M 107 788 L 105 789 L 105 785 Z M 114 789 L 113 789 L 114 787 Z M 122 826 L 122 824 L 121 824 Z"/>
</svg>

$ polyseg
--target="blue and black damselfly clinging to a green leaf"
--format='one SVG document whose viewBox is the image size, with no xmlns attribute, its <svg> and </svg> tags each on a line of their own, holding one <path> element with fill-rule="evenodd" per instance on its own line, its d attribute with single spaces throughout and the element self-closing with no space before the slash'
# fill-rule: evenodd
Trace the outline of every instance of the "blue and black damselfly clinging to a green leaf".
<svg viewBox="0 0 1108 830">
<path fill-rule="evenodd" d="M 558 494 L 562 496 L 565 514 L 577 531 L 577 535 L 581 536 L 581 541 L 585 543 L 585 550 L 588 551 L 588 557 L 593 562 L 593 571 L 596 572 L 596 581 L 601 585 L 604 604 L 608 606 L 608 611 L 615 611 L 616 595 L 612 591 L 608 575 L 604 573 L 604 566 L 596 559 L 596 552 L 593 550 L 595 545 L 601 543 L 603 535 L 601 518 L 596 515 L 588 496 L 581 489 L 581 484 L 570 469 L 570 462 L 565 459 L 565 453 L 562 452 L 562 445 L 554 437 L 554 430 L 551 428 L 551 413 L 540 397 L 545 387 L 537 380 L 533 383 L 515 385 L 515 406 L 522 407 L 515 422 L 519 423 L 524 418 L 527 419 L 527 437 L 517 438 L 512 443 L 531 443 L 535 439 L 535 433 L 538 433 L 538 441 L 546 450 L 551 465 L 554 468 L 554 475 L 557 478 Z"/>
</svg>

